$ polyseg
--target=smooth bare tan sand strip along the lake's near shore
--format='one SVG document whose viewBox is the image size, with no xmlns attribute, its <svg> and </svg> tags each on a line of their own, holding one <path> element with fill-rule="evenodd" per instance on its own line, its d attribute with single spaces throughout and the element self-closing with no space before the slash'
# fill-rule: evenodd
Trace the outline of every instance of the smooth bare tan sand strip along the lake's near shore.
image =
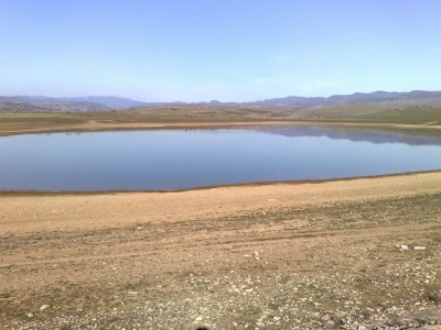
<svg viewBox="0 0 441 330">
<path fill-rule="evenodd" d="M 0 234 L 95 230 L 220 218 L 260 209 L 375 200 L 440 191 L 441 172 L 318 183 L 262 184 L 180 193 L 0 193 Z"/>
</svg>

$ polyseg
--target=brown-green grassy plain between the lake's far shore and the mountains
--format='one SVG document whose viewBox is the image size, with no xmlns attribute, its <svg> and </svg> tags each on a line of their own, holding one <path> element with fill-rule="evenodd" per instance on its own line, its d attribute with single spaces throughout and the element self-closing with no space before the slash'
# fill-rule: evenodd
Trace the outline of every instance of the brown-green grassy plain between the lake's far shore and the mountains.
<svg viewBox="0 0 441 330">
<path fill-rule="evenodd" d="M 401 128 L 441 135 L 440 105 L 293 106 L 170 105 L 99 112 L 1 111 L 0 135 L 159 128 L 230 127 L 256 123 Z"/>
</svg>

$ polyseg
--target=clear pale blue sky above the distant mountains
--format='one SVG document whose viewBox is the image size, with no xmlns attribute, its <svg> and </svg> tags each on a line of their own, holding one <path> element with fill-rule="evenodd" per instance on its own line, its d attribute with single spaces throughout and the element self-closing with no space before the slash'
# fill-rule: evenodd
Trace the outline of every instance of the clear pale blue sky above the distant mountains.
<svg viewBox="0 0 441 330">
<path fill-rule="evenodd" d="M 0 95 L 441 90 L 439 0 L 0 0 Z"/>
</svg>

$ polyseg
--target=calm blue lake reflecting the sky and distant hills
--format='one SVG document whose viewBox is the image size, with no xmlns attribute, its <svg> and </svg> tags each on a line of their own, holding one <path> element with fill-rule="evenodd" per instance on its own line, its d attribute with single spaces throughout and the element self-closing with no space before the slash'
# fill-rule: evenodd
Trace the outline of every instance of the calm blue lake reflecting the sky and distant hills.
<svg viewBox="0 0 441 330">
<path fill-rule="evenodd" d="M 441 140 L 318 127 L 0 138 L 0 190 L 160 190 L 441 168 Z"/>
</svg>

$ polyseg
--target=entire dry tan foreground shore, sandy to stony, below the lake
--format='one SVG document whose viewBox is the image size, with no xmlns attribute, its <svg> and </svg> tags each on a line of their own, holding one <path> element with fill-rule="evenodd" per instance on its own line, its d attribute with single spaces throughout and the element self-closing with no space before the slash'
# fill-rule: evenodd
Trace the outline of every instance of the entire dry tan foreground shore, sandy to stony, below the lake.
<svg viewBox="0 0 441 330">
<path fill-rule="evenodd" d="M 0 329 L 428 327 L 440 220 L 441 172 L 2 193 Z"/>
</svg>

